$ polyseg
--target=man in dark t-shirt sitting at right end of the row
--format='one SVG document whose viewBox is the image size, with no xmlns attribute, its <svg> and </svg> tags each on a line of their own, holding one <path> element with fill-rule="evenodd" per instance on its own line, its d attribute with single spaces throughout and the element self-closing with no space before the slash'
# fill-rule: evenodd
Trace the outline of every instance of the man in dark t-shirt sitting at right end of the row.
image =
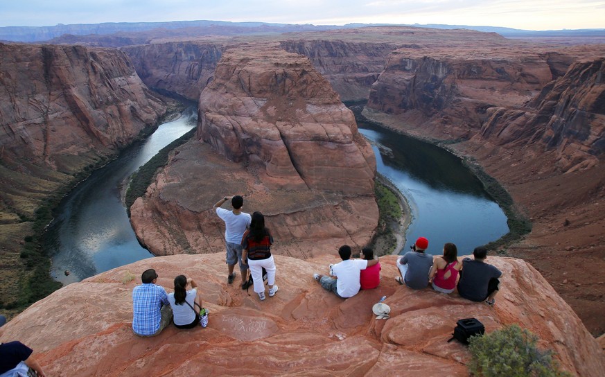
<svg viewBox="0 0 605 377">
<path fill-rule="evenodd" d="M 485 301 L 492 306 L 496 302 L 498 286 L 500 286 L 498 278 L 502 276 L 502 272 L 495 266 L 485 263 L 487 258 L 485 247 L 475 247 L 473 256 L 474 260 L 471 258 L 462 260 L 458 293 L 465 299 Z"/>
</svg>

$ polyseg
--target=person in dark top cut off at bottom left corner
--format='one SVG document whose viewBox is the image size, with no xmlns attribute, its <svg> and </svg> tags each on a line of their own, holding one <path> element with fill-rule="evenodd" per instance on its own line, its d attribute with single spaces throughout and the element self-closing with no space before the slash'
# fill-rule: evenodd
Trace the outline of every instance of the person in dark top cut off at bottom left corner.
<svg viewBox="0 0 605 377">
<path fill-rule="evenodd" d="M 4 333 L 4 324 L 6 317 L 0 315 L 0 337 Z M 28 374 L 29 369 L 32 369 L 35 376 L 46 377 L 40 364 L 31 356 L 32 353 L 33 350 L 21 342 L 0 343 L 0 376 L 32 376 Z"/>
</svg>

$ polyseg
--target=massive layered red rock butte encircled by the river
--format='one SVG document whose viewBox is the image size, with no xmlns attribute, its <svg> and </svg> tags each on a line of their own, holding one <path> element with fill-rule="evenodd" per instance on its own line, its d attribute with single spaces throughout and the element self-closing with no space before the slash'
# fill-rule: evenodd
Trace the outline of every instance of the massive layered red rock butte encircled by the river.
<svg viewBox="0 0 605 377">
<path fill-rule="evenodd" d="M 197 135 L 131 208 L 154 254 L 224 249 L 212 205 L 235 194 L 245 211 L 265 214 L 278 254 L 307 258 L 371 239 L 374 152 L 308 58 L 271 46 L 225 51 L 200 96 Z"/>
</svg>

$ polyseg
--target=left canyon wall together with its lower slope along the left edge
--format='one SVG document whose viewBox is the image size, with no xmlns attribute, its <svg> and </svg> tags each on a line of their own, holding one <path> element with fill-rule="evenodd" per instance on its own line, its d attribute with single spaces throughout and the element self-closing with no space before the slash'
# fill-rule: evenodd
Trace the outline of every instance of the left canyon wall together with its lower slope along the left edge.
<svg viewBox="0 0 605 377">
<path fill-rule="evenodd" d="M 0 44 L 0 260 L 7 267 L 0 304 L 23 299 L 19 282 L 31 263 L 41 266 L 33 256 L 19 258 L 37 209 L 48 209 L 49 196 L 76 173 L 102 164 L 164 112 L 124 53 Z M 47 263 L 40 271 L 48 273 Z"/>
</svg>

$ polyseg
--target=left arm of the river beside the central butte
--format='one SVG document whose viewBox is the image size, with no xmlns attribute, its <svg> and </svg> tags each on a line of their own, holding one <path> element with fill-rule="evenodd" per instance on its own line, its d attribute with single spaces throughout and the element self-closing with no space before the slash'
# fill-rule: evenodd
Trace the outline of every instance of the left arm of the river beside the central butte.
<svg viewBox="0 0 605 377">
<path fill-rule="evenodd" d="M 55 280 L 73 283 L 152 256 L 139 245 L 130 226 L 121 198 L 124 185 L 161 148 L 194 128 L 195 114 L 195 109 L 188 109 L 179 119 L 160 125 L 148 139 L 96 170 L 67 195 L 44 235 Z"/>
</svg>

